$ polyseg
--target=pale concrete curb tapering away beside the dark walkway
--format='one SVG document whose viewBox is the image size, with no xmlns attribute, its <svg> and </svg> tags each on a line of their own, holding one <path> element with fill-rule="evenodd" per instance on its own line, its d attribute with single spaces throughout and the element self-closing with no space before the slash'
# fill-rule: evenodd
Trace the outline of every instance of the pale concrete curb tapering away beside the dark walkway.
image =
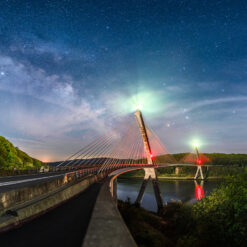
<svg viewBox="0 0 247 247">
<path fill-rule="evenodd" d="M 137 247 L 111 196 L 109 184 L 113 184 L 112 178 L 100 189 L 82 247 Z"/>
</svg>

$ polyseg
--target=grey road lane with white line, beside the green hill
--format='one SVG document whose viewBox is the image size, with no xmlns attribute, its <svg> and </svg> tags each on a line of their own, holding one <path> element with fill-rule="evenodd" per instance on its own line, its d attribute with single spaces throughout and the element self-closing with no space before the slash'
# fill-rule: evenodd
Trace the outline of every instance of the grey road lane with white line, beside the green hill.
<svg viewBox="0 0 247 247">
<path fill-rule="evenodd" d="M 53 172 L 11 177 L 0 177 L 0 193 L 47 182 L 59 177 L 63 177 L 64 173 L 65 172 Z"/>
</svg>

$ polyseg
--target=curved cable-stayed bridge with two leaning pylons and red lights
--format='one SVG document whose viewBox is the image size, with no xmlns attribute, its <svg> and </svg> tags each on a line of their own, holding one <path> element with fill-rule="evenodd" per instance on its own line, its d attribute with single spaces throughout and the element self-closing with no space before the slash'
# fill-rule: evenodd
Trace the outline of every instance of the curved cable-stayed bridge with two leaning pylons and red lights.
<svg viewBox="0 0 247 247">
<path fill-rule="evenodd" d="M 117 176 L 144 169 L 136 203 L 141 203 L 151 180 L 158 212 L 162 212 L 155 169 L 196 166 L 195 179 L 199 172 L 204 179 L 202 161 L 196 149 L 178 163 L 137 110 L 133 121 L 120 131 L 113 129 L 56 163 L 50 172 L 0 178 L 1 246 L 135 246 L 113 203 Z"/>
</svg>

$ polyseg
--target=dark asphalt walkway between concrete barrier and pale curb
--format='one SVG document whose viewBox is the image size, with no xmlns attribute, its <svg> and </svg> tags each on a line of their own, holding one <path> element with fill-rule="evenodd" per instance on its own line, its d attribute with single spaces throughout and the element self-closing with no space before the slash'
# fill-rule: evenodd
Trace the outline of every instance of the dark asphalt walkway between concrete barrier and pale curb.
<svg viewBox="0 0 247 247">
<path fill-rule="evenodd" d="M 0 233 L 1 247 L 81 247 L 101 183 L 17 229 Z"/>
</svg>

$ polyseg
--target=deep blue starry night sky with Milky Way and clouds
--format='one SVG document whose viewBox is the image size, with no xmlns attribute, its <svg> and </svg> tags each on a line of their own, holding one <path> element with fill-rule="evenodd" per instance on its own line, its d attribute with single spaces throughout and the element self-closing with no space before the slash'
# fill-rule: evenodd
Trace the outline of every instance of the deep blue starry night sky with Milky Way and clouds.
<svg viewBox="0 0 247 247">
<path fill-rule="evenodd" d="M 1 0 L 0 135 L 61 160 L 143 104 L 171 153 L 247 153 L 246 23 L 244 0 Z"/>
</svg>

